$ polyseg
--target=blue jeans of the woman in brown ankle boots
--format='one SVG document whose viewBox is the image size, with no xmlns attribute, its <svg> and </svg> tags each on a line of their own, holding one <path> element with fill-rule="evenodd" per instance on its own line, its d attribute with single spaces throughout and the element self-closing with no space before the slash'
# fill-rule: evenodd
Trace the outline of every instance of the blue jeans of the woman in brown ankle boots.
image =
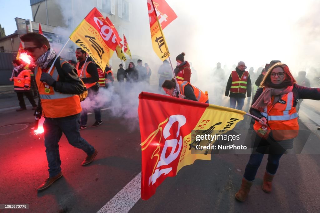
<svg viewBox="0 0 320 213">
<path fill-rule="evenodd" d="M 250 155 L 249 162 L 248 162 L 247 166 L 245 167 L 245 171 L 244 171 L 244 175 L 243 175 L 243 177 L 245 179 L 247 179 L 249 181 L 254 180 L 254 178 L 256 177 L 257 171 L 259 169 L 259 166 L 261 164 L 263 156 L 264 156 L 264 154 L 251 154 Z M 279 167 L 279 161 L 280 161 L 281 156 L 282 156 L 282 154 L 277 154 L 277 155 L 269 154 L 268 155 L 268 163 L 267 163 L 266 171 L 269 174 L 271 174 L 271 175 L 276 174 L 276 171 Z"/>
</svg>

